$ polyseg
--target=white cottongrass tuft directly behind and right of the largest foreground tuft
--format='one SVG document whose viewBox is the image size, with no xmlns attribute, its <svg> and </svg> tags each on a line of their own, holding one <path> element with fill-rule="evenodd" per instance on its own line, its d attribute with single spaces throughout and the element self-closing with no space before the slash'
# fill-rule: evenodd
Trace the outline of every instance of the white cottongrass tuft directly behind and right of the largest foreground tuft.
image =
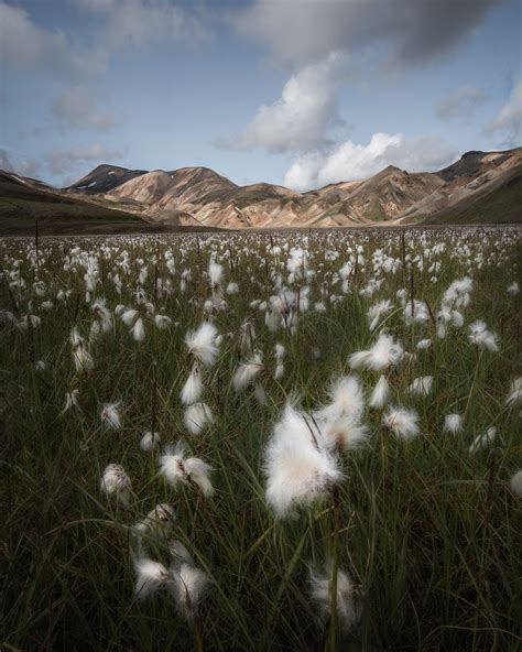
<svg viewBox="0 0 522 652">
<path fill-rule="evenodd" d="M 360 424 L 365 410 L 365 396 L 359 380 L 346 376 L 330 389 L 331 403 L 314 413 L 323 434 L 323 443 L 329 450 L 356 448 L 368 437 L 368 428 Z"/>
</svg>

